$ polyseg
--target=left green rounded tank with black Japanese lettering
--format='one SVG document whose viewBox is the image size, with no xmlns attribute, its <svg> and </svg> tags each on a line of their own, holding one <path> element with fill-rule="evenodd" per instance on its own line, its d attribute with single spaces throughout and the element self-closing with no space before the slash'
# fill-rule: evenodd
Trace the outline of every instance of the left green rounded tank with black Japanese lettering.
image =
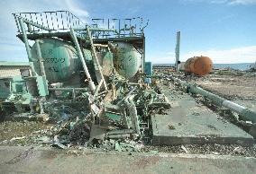
<svg viewBox="0 0 256 174">
<path fill-rule="evenodd" d="M 76 48 L 60 39 L 41 39 L 41 57 L 46 78 L 50 83 L 61 83 L 70 80 L 81 70 Z M 32 46 L 32 61 L 37 74 L 41 74 L 36 45 Z"/>
</svg>

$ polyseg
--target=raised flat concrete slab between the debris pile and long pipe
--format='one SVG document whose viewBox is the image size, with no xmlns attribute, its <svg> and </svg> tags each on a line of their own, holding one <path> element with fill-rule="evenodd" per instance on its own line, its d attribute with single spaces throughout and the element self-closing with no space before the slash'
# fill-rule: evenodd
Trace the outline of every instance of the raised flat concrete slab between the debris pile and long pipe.
<svg viewBox="0 0 256 174">
<path fill-rule="evenodd" d="M 153 144 L 252 145 L 253 137 L 218 117 L 187 93 L 164 88 L 171 102 L 167 115 L 151 116 Z"/>
</svg>

